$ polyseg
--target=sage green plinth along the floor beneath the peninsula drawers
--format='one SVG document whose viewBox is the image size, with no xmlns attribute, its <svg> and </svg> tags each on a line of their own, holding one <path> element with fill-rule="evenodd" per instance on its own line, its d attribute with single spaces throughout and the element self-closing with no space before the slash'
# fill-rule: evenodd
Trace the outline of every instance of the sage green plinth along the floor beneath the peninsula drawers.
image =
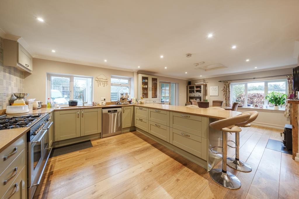
<svg viewBox="0 0 299 199">
<path fill-rule="evenodd" d="M 182 149 L 180 149 L 180 148 L 178 148 L 178 147 L 176 147 L 176 146 L 174 146 L 174 145 L 172 145 L 168 142 L 165 142 L 164 140 L 161 140 L 160 138 L 155 137 L 152 134 L 149 134 L 149 133 L 141 130 L 140 128 L 136 127 L 136 131 L 138 131 L 141 134 L 144 134 L 145 136 L 149 137 L 152 140 L 155 140 L 156 142 L 160 143 L 161 145 L 163 145 L 163 146 L 167 147 L 168 149 L 176 152 L 177 154 L 180 154 L 184 158 L 190 160 L 191 162 L 194 162 L 194 163 L 198 164 L 199 166 L 201 166 L 201 167 L 203 167 L 204 169 L 207 170 L 207 161 L 202 160 L 201 158 L 196 157 L 196 156 L 188 153 L 187 151 L 184 151 L 184 150 L 182 150 Z"/>
</svg>

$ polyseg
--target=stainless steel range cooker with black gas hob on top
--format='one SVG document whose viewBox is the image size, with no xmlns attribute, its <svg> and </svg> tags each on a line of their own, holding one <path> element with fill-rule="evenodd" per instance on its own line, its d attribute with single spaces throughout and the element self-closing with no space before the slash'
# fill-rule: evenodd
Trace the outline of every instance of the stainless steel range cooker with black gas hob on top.
<svg viewBox="0 0 299 199">
<path fill-rule="evenodd" d="M 48 113 L 0 116 L 0 130 L 29 127 L 27 141 L 27 198 L 33 198 L 42 180 L 52 147 L 49 147 L 49 128 L 53 122 Z"/>
</svg>

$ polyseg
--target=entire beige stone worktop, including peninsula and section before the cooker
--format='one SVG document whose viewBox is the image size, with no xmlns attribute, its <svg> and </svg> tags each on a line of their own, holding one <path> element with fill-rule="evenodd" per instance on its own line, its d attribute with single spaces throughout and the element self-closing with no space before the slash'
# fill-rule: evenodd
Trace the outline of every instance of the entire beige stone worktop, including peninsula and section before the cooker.
<svg viewBox="0 0 299 199">
<path fill-rule="evenodd" d="M 179 112 L 184 114 L 199 115 L 204 117 L 216 118 L 216 119 L 225 119 L 229 117 L 234 117 L 239 114 L 242 114 L 238 111 L 221 111 L 217 109 L 207 109 L 207 108 L 189 108 L 185 106 L 175 106 L 175 105 L 165 105 L 165 104 L 126 104 L 126 105 L 105 105 L 105 106 L 94 106 L 94 107 L 74 107 L 74 108 L 39 108 L 33 109 L 28 113 L 24 114 L 37 114 L 37 113 L 51 113 L 52 111 L 63 111 L 63 110 L 73 110 L 73 109 L 82 109 L 82 108 L 113 108 L 120 106 L 139 106 L 147 108 L 155 108 L 159 110 L 167 110 L 173 112 Z M 18 114 L 18 115 L 24 115 Z M 25 134 L 29 128 L 13 128 L 7 130 L 0 130 L 0 152 L 3 151 L 7 146 L 16 141 L 19 137 Z"/>
</svg>

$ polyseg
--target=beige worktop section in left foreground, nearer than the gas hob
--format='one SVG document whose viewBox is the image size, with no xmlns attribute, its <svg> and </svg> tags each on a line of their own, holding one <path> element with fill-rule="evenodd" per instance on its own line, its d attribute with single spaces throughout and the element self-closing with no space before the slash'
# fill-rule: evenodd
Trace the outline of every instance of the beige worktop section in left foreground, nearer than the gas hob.
<svg viewBox="0 0 299 199">
<path fill-rule="evenodd" d="M 0 153 L 29 130 L 28 127 L 0 130 Z"/>
</svg>

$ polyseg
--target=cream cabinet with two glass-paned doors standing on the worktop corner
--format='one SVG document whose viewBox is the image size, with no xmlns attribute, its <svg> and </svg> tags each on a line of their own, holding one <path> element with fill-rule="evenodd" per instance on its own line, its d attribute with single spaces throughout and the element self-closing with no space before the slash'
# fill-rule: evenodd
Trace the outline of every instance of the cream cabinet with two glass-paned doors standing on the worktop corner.
<svg viewBox="0 0 299 199">
<path fill-rule="evenodd" d="M 137 98 L 144 94 L 144 100 L 156 100 L 159 101 L 159 78 L 152 75 L 138 74 L 137 79 Z"/>
</svg>

